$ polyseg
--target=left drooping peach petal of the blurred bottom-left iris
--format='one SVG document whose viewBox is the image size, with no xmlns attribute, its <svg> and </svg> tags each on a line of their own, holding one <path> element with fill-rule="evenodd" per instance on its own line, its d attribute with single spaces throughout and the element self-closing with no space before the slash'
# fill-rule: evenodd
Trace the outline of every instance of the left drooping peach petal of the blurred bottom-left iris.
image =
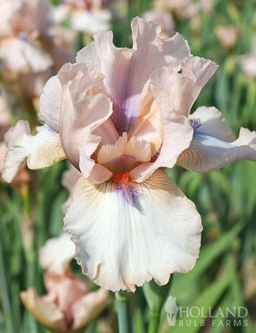
<svg viewBox="0 0 256 333">
<path fill-rule="evenodd" d="M 54 332 L 68 332 L 64 314 L 52 302 L 39 297 L 35 288 L 21 292 L 21 300 L 31 314 Z"/>
</svg>

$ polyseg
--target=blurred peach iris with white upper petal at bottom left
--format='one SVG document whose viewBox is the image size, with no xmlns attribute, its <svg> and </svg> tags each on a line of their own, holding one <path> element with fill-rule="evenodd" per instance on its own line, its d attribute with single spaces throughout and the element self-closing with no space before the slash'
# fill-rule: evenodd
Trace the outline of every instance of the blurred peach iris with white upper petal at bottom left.
<svg viewBox="0 0 256 333">
<path fill-rule="evenodd" d="M 71 272 L 69 263 L 75 253 L 70 235 L 48 239 L 40 250 L 47 295 L 38 296 L 35 288 L 21 292 L 21 300 L 37 320 L 53 332 L 77 332 L 104 308 L 108 292 L 90 291 L 88 282 Z"/>
</svg>

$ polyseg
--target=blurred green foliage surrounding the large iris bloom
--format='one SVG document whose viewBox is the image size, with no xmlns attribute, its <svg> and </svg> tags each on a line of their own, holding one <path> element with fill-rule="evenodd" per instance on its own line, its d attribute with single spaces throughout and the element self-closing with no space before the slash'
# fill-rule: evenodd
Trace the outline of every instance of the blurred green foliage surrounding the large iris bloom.
<svg viewBox="0 0 256 333">
<path fill-rule="evenodd" d="M 57 3 L 57 1 L 53 1 Z M 256 80 L 241 73 L 239 55 L 250 52 L 251 38 L 256 32 L 255 0 L 215 0 L 210 17 L 201 15 L 201 29 L 194 33 L 190 20 L 176 22 L 188 40 L 192 53 L 209 58 L 219 69 L 203 88 L 193 109 L 216 106 L 235 135 L 241 126 L 255 130 Z M 153 7 L 152 1 L 129 0 L 128 17 L 142 15 Z M 234 10 L 235 8 L 235 10 Z M 214 28 L 226 24 L 241 27 L 235 49 L 221 46 Z M 116 46 L 130 46 L 129 21 L 120 24 L 113 19 Z M 28 193 L 21 196 L 11 186 L 0 183 L 0 332 L 48 332 L 21 305 L 19 292 L 35 286 L 44 293 L 43 271 L 38 264 L 38 250 L 46 239 L 62 231 L 61 205 L 68 192 L 61 185 L 66 162 L 43 171 L 31 171 L 33 181 Z M 177 304 L 217 309 L 221 306 L 246 306 L 248 326 L 169 327 L 163 312 L 161 333 L 167 332 L 255 332 L 256 293 L 246 296 L 250 284 L 256 284 L 256 168 L 254 162 L 239 161 L 209 174 L 192 173 L 179 167 L 167 173 L 184 193 L 196 203 L 203 219 L 200 257 L 188 274 L 174 275 L 170 293 Z M 73 270 L 80 267 L 73 262 Z M 254 275 L 254 280 L 251 276 Z M 147 332 L 148 310 L 143 290 L 132 296 L 135 333 Z M 214 310 L 215 311 L 215 310 Z M 197 318 L 201 319 L 201 318 Z M 113 295 L 100 315 L 100 321 L 111 321 L 117 332 Z M 104 332 L 98 319 L 84 332 Z"/>
</svg>

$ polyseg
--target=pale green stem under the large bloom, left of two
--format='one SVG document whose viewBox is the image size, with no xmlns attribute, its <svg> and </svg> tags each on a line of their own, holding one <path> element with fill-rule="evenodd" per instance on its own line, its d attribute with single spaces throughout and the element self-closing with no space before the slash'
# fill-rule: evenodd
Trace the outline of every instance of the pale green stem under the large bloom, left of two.
<svg viewBox="0 0 256 333">
<path fill-rule="evenodd" d="M 131 304 L 127 291 L 116 291 L 119 333 L 132 333 Z"/>
</svg>

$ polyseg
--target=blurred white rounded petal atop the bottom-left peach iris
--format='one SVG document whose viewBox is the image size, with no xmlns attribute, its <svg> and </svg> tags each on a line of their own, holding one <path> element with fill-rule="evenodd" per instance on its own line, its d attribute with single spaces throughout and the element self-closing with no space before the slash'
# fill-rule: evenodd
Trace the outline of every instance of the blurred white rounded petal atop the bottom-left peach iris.
<svg viewBox="0 0 256 333">
<path fill-rule="evenodd" d="M 71 234 L 64 232 L 60 237 L 48 239 L 40 249 L 39 262 L 47 271 L 64 274 L 75 254 L 75 246 Z"/>
</svg>

